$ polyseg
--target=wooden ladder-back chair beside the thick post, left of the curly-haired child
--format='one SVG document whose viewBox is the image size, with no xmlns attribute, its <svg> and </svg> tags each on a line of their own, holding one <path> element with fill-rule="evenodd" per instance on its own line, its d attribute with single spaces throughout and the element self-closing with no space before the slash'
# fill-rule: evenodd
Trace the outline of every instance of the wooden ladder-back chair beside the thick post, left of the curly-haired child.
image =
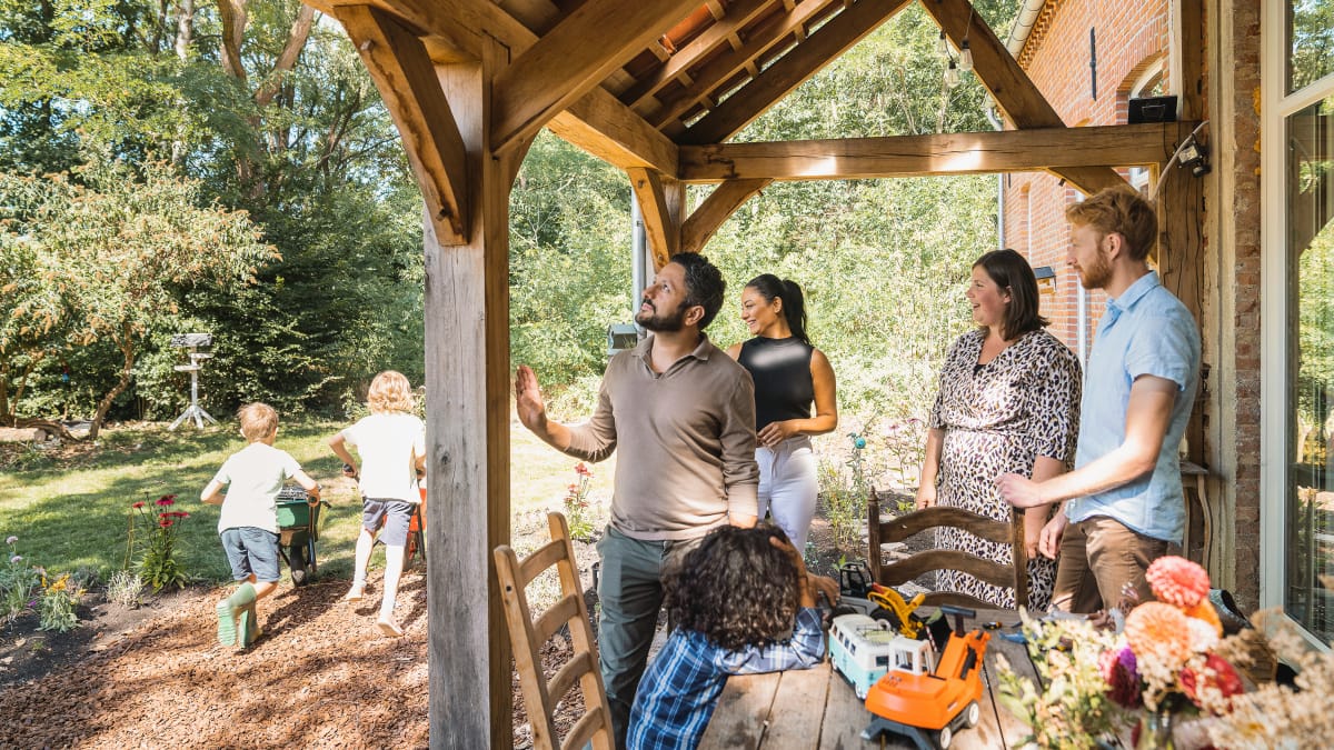
<svg viewBox="0 0 1334 750">
<path fill-rule="evenodd" d="M 519 560 L 508 544 L 495 548 L 496 578 L 504 599 L 504 617 L 514 646 L 514 663 L 519 671 L 523 702 L 528 709 L 535 750 L 582 749 L 590 742 L 594 750 L 612 750 L 611 709 L 598 670 L 598 647 L 588 625 L 588 606 L 579 586 L 575 548 L 570 543 L 570 526 L 559 512 L 547 514 L 551 542 Z M 555 567 L 560 577 L 560 601 L 542 613 L 528 607 L 524 589 L 543 571 Z M 574 655 L 551 681 L 542 673 L 542 647 L 560 631 L 570 629 Z M 584 699 L 584 715 L 575 722 L 564 742 L 556 735 L 552 718 L 556 703 L 578 681 Z"/>
</svg>

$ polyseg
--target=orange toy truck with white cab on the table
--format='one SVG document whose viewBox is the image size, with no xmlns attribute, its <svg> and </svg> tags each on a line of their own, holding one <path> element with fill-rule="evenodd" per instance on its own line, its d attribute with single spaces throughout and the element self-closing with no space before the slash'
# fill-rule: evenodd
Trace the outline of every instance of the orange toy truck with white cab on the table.
<svg viewBox="0 0 1334 750">
<path fill-rule="evenodd" d="M 964 633 L 963 618 L 976 617 L 972 610 L 940 607 L 940 611 L 955 615 L 944 654 L 932 669 L 930 641 L 894 641 L 888 671 L 866 695 L 866 707 L 875 715 L 862 739 L 875 741 L 890 731 L 907 735 L 920 750 L 944 750 L 955 731 L 978 723 L 982 657 L 991 634 L 980 629 Z"/>
</svg>

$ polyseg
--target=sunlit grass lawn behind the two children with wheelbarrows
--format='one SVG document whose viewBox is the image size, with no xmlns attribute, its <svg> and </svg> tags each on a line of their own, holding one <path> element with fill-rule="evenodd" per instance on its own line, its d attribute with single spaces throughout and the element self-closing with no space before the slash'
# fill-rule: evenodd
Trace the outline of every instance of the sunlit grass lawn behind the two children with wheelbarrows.
<svg viewBox="0 0 1334 750">
<path fill-rule="evenodd" d="M 275 444 L 324 486 L 324 498 L 332 503 L 317 543 L 320 574 L 351 578 L 362 506 L 354 483 L 342 476 L 342 462 L 325 444 L 342 427 L 340 422 L 283 422 Z M 559 510 L 576 462 L 516 422 L 511 446 L 514 512 Z M 217 542 L 219 508 L 200 503 L 199 492 L 223 460 L 244 447 L 235 424 L 176 432 L 168 432 L 164 423 L 111 428 L 96 447 L 72 444 L 55 451 L 16 443 L 0 447 L 0 538 L 17 536 L 15 551 L 32 565 L 59 573 L 84 569 L 105 578 L 124 565 L 131 503 L 176 494 L 173 510 L 191 514 L 180 528 L 177 559 L 197 579 L 231 578 Z M 592 499 L 603 507 L 611 499 L 612 464 L 595 467 Z M 372 565 L 380 560 L 378 548 Z"/>
</svg>

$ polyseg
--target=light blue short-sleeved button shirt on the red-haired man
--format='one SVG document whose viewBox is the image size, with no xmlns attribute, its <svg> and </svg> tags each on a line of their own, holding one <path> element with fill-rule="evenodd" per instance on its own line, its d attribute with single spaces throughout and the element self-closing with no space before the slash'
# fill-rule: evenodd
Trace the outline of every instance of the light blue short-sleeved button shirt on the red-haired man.
<svg viewBox="0 0 1334 750">
<path fill-rule="evenodd" d="M 1177 451 L 1199 386 L 1199 330 L 1186 306 L 1158 282 L 1157 272 L 1141 276 L 1119 298 L 1109 299 L 1098 323 L 1079 404 L 1077 470 L 1125 442 L 1130 386 L 1141 375 L 1166 378 L 1181 388 L 1153 474 L 1073 499 L 1066 503 L 1066 515 L 1071 522 L 1109 516 L 1146 536 L 1179 544 L 1186 504 Z"/>
</svg>

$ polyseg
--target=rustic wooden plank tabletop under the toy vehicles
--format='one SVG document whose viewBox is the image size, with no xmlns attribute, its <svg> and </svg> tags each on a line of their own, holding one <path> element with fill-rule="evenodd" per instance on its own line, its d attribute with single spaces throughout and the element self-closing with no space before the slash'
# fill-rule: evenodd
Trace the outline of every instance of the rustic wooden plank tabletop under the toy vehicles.
<svg viewBox="0 0 1334 750">
<path fill-rule="evenodd" d="M 976 622 L 1019 622 L 1007 611 L 979 610 Z M 968 622 L 972 626 L 972 622 Z M 996 657 L 1005 654 L 1017 673 L 1037 679 L 1027 650 L 1019 643 L 999 638 L 992 631 L 987 643 L 983 678 L 982 721 L 972 729 L 954 735 L 951 747 L 994 749 L 1018 746 L 1029 727 L 1010 714 L 998 701 L 999 669 Z M 864 742 L 862 730 L 871 722 L 871 713 L 852 691 L 852 686 L 832 670 L 828 659 L 810 670 L 738 675 L 727 681 L 718 709 L 700 743 L 706 750 L 820 749 L 850 750 L 860 747 L 915 747 L 900 735 L 884 735 L 880 742 Z"/>
</svg>

